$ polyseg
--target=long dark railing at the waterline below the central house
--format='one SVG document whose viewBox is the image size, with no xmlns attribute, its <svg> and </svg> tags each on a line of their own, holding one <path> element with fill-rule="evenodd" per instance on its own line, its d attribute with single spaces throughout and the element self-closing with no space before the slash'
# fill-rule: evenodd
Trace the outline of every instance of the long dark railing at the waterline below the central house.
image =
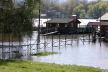
<svg viewBox="0 0 108 72">
<path fill-rule="evenodd" d="M 87 27 L 87 28 L 72 28 L 72 27 L 65 27 L 65 28 L 42 28 L 41 32 L 42 34 L 50 33 L 58 31 L 60 34 L 78 34 L 78 33 L 91 33 L 93 32 L 93 28 Z"/>
</svg>

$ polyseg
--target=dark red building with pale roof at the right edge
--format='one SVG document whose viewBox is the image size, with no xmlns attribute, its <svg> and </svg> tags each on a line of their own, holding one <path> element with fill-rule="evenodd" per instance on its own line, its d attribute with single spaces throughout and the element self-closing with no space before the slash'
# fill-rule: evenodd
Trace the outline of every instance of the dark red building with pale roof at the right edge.
<svg viewBox="0 0 108 72">
<path fill-rule="evenodd" d="M 89 22 L 88 26 L 100 32 L 101 36 L 108 34 L 108 13 L 101 16 L 96 22 Z"/>
</svg>

